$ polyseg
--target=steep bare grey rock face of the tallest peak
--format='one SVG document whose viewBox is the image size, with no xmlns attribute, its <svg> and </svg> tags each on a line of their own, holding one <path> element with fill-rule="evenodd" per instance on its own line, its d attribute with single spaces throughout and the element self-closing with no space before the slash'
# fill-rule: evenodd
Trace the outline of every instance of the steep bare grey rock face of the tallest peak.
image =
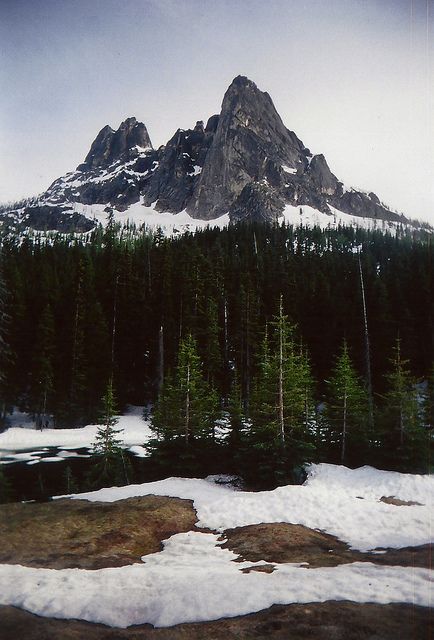
<svg viewBox="0 0 434 640">
<path fill-rule="evenodd" d="M 196 218 L 217 218 L 229 211 L 247 184 L 260 182 L 282 165 L 296 170 L 306 153 L 303 143 L 284 126 L 270 96 L 238 76 L 224 96 L 187 211 Z"/>
</svg>

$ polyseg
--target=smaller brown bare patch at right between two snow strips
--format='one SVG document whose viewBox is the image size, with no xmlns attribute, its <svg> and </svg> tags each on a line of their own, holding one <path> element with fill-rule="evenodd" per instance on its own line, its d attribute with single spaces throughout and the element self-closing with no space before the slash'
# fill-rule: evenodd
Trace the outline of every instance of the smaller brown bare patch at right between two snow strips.
<svg viewBox="0 0 434 640">
<path fill-rule="evenodd" d="M 222 547 L 238 553 L 240 561 L 307 562 L 310 567 L 335 567 L 348 562 L 373 562 L 432 568 L 432 546 L 387 549 L 381 553 L 352 551 L 345 542 L 303 525 L 274 523 L 227 529 Z"/>
</svg>

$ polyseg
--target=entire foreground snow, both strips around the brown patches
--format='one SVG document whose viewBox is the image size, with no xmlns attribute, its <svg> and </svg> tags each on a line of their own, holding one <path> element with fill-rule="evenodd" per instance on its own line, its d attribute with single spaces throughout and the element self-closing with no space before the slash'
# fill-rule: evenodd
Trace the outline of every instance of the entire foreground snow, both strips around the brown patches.
<svg viewBox="0 0 434 640">
<path fill-rule="evenodd" d="M 190 498 L 203 527 L 224 530 L 257 522 L 299 523 L 366 550 L 429 542 L 433 493 L 433 477 L 323 464 L 311 465 L 304 486 L 270 492 L 238 492 L 207 480 L 169 478 L 75 497 L 93 501 L 147 494 Z M 383 495 L 423 505 L 384 504 L 379 502 Z M 277 564 L 270 574 L 243 573 L 242 569 L 263 563 L 234 562 L 236 554 L 221 544 L 217 535 L 195 531 L 172 536 L 163 551 L 126 567 L 87 571 L 0 565 L 0 601 L 38 615 L 118 627 L 171 626 L 295 602 L 432 604 L 428 569 L 356 562 L 316 569 Z"/>
</svg>

